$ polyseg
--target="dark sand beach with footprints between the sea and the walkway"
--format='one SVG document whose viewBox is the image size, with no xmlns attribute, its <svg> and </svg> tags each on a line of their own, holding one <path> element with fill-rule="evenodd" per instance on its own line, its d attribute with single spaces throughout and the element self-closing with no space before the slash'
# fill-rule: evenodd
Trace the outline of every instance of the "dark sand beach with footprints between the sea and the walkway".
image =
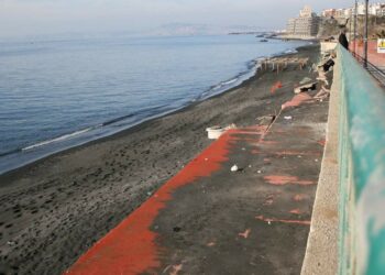
<svg viewBox="0 0 385 275">
<path fill-rule="evenodd" d="M 319 47 L 292 55 L 311 65 Z M 206 128 L 277 113 L 308 74 L 258 72 L 220 96 L 1 175 L 0 273 L 63 273 L 210 144 Z"/>
</svg>

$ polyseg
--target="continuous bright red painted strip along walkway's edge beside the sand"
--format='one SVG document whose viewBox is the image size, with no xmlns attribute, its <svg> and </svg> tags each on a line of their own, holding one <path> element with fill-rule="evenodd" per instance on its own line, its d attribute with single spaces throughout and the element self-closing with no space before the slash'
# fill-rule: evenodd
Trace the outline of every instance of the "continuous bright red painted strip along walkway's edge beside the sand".
<svg viewBox="0 0 385 275">
<path fill-rule="evenodd" d="M 248 133 L 261 132 L 251 128 Z M 241 131 L 239 131 L 241 132 Z M 97 242 L 66 274 L 140 274 L 160 266 L 157 234 L 150 228 L 173 193 L 199 177 L 208 177 L 228 160 L 230 141 L 237 130 L 229 130 L 179 174 L 166 183 L 147 201 Z"/>
</svg>

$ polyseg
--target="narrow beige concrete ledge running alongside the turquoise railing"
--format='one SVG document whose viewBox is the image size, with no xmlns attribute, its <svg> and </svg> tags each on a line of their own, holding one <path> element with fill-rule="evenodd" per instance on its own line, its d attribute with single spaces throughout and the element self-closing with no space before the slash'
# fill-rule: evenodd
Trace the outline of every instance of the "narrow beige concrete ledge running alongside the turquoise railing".
<svg viewBox="0 0 385 275">
<path fill-rule="evenodd" d="M 310 232 L 301 274 L 338 273 L 339 112 L 340 62 L 334 67 L 330 92 L 327 143 L 312 210 Z"/>
</svg>

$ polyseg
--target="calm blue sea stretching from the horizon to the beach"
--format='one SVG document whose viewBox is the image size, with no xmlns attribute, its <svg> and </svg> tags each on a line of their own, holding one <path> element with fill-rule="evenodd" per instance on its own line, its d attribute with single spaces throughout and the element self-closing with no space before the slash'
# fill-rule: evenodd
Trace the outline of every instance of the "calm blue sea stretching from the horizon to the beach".
<svg viewBox="0 0 385 275">
<path fill-rule="evenodd" d="M 304 44 L 258 40 L 0 42 L 0 173 L 223 92 Z"/>
</svg>

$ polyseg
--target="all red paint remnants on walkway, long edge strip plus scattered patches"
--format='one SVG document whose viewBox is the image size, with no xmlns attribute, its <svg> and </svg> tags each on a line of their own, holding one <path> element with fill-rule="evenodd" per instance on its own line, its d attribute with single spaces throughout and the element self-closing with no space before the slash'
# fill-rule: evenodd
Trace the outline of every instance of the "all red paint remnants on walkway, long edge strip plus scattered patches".
<svg viewBox="0 0 385 275">
<path fill-rule="evenodd" d="M 302 131 L 306 135 L 306 129 L 296 128 L 295 132 Z M 155 274 L 162 267 L 161 255 L 164 248 L 157 243 L 160 235 L 154 232 L 151 227 L 155 219 L 160 216 L 160 211 L 166 208 L 167 202 L 173 199 L 173 194 L 180 187 L 194 184 L 197 179 L 202 177 L 210 177 L 212 173 L 221 169 L 222 164 L 229 161 L 228 156 L 231 150 L 237 145 L 242 136 L 243 142 L 246 142 L 251 147 L 260 145 L 254 151 L 265 151 L 270 154 L 276 155 L 282 147 L 286 146 L 286 139 L 280 142 L 265 141 L 261 139 L 264 136 L 266 127 L 250 127 L 245 129 L 234 129 L 226 132 L 219 140 L 213 142 L 206 148 L 198 157 L 193 160 L 183 170 L 175 177 L 167 182 L 158 191 L 156 191 L 147 201 L 140 208 L 132 212 L 125 220 L 123 220 L 117 228 L 111 230 L 105 238 L 97 242 L 88 252 L 86 252 L 67 272 L 66 274 Z M 309 130 L 308 130 L 309 131 Z M 278 138 L 285 131 L 275 131 Z M 288 132 L 286 132 L 288 134 Z M 317 144 L 317 143 L 316 143 Z M 318 145 L 318 144 L 317 144 Z M 251 148 L 250 147 L 250 148 Z M 306 155 L 309 153 L 295 152 L 295 154 Z M 311 152 L 312 153 L 312 152 Z M 319 152 L 318 152 L 319 154 Z M 261 155 L 262 160 L 270 161 Z M 292 167 L 293 169 L 293 167 Z M 298 185 L 311 186 L 317 182 L 310 179 L 298 178 L 293 175 L 266 175 L 263 177 L 264 182 L 274 186 Z M 276 190 L 278 195 L 280 190 Z M 298 194 L 294 197 L 294 201 L 305 199 L 305 195 Z M 275 204 L 275 196 L 268 196 L 263 204 L 264 206 L 272 206 Z M 288 209 L 293 215 L 301 213 L 299 209 Z M 264 222 L 288 223 L 309 226 L 308 220 L 293 220 L 280 218 L 265 218 L 264 216 L 256 216 L 256 220 Z M 245 229 L 239 232 L 239 237 L 243 239 L 252 238 L 254 232 L 251 229 Z M 215 246 L 216 242 L 209 242 L 207 246 Z M 169 266 L 168 266 L 169 267 Z M 167 267 L 167 268 L 168 268 Z M 182 270 L 182 265 L 170 266 L 173 268 L 170 274 L 177 274 Z"/>
</svg>

